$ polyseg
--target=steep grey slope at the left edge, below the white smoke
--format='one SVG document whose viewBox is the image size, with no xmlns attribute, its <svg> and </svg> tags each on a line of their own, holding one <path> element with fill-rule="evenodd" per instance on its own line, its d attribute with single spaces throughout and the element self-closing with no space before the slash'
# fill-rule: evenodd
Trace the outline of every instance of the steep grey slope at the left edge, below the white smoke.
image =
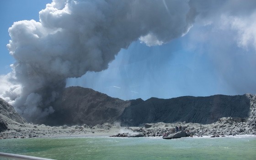
<svg viewBox="0 0 256 160">
<path fill-rule="evenodd" d="M 15 109 L 9 103 L 7 103 L 2 98 L 0 98 L 0 117 L 2 117 L 1 115 L 4 115 L 5 117 L 10 118 L 11 120 L 18 123 L 27 122 L 15 111 Z"/>
</svg>

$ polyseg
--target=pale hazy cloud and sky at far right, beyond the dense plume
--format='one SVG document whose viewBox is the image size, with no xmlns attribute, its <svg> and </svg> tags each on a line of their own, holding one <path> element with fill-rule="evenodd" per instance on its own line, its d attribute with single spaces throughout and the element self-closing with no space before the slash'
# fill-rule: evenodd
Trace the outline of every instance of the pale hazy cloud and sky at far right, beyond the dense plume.
<svg viewBox="0 0 256 160">
<path fill-rule="evenodd" d="M 190 2 L 198 15 L 188 35 L 188 48 L 211 59 L 218 84 L 228 88 L 222 94 L 255 93 L 256 1 Z"/>
</svg>

